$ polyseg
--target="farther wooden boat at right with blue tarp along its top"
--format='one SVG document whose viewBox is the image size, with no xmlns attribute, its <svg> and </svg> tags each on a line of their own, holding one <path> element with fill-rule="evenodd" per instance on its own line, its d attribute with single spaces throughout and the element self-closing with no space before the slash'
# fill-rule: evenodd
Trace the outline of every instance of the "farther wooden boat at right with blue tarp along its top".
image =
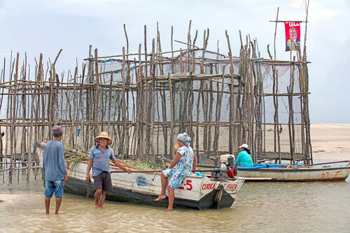
<svg viewBox="0 0 350 233">
<path fill-rule="evenodd" d="M 350 164 L 344 167 L 238 167 L 238 176 L 269 177 L 273 178 L 271 181 L 344 181 L 349 173 Z"/>
</svg>

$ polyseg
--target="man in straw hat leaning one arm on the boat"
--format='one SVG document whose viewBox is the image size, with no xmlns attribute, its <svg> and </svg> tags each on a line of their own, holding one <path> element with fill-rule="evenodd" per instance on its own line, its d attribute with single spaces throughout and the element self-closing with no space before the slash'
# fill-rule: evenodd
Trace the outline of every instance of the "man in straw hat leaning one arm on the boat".
<svg viewBox="0 0 350 233">
<path fill-rule="evenodd" d="M 106 199 L 106 191 L 113 191 L 111 170 L 109 169 L 109 160 L 113 164 L 129 174 L 131 169 L 123 166 L 116 157 L 114 157 L 113 150 L 107 145 L 111 145 L 112 139 L 109 138 L 107 132 L 101 132 L 94 141 L 98 144 L 92 146 L 89 155 L 89 164 L 87 164 L 86 181 L 90 182 L 90 169 L 92 167 L 92 177 L 94 178 L 94 205 L 102 208 L 104 200 Z"/>
</svg>

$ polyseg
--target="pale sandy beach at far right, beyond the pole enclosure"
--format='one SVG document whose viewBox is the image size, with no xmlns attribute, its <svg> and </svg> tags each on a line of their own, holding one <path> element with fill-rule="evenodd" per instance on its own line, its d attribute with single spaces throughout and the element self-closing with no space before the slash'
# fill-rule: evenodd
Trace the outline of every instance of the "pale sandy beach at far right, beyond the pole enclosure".
<svg viewBox="0 0 350 233">
<path fill-rule="evenodd" d="M 311 124 L 313 157 L 350 160 L 350 124 Z"/>
</svg>

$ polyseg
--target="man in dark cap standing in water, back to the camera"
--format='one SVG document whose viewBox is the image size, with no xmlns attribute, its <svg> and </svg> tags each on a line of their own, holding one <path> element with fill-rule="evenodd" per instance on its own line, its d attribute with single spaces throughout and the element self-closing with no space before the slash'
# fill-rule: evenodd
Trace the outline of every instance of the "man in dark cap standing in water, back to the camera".
<svg viewBox="0 0 350 233">
<path fill-rule="evenodd" d="M 55 192 L 56 210 L 58 214 L 59 206 L 62 203 L 64 182 L 68 178 L 66 162 L 64 161 L 64 148 L 60 142 L 62 140 L 63 129 L 60 126 L 52 128 L 54 139 L 49 141 L 44 149 L 43 171 L 45 173 L 45 208 L 46 213 L 50 211 L 50 200 Z"/>
</svg>

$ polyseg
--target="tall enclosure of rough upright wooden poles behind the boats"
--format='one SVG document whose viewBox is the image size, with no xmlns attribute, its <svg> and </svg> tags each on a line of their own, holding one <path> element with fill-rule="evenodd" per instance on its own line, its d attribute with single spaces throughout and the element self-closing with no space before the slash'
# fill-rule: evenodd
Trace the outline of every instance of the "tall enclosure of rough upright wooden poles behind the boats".
<svg viewBox="0 0 350 233">
<path fill-rule="evenodd" d="M 76 66 L 61 78 L 55 71 L 59 54 L 46 71 L 41 55 L 29 78 L 18 53 L 9 80 L 5 67 L 1 76 L 1 170 L 34 166 L 32 145 L 52 139 L 54 125 L 62 125 L 64 143 L 78 150 L 89 150 L 99 132 L 108 132 L 120 159 L 171 159 L 181 132 L 191 136 L 202 162 L 237 155 L 241 143 L 250 146 L 254 162 L 310 159 L 307 62 L 300 51 L 293 61 L 263 59 L 247 36 L 233 57 L 227 33 L 223 55 L 207 50 L 209 29 L 202 48 L 189 29 L 186 49 L 162 52 L 159 35 L 151 51 L 146 27 L 139 52 L 128 52 L 127 44 L 122 55 L 99 57 L 90 46 L 82 70 Z"/>
</svg>

